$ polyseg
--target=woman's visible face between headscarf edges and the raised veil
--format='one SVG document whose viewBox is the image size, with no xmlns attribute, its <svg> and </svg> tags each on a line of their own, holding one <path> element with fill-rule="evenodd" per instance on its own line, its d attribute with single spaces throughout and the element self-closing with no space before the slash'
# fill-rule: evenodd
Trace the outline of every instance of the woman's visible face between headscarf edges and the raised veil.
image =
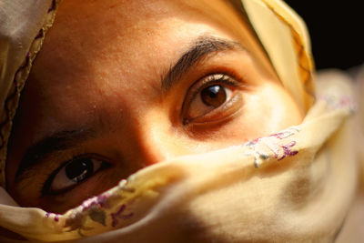
<svg viewBox="0 0 364 243">
<path fill-rule="evenodd" d="M 8 190 L 64 212 L 142 167 L 300 121 L 222 1 L 66 0 L 22 94 Z"/>
</svg>

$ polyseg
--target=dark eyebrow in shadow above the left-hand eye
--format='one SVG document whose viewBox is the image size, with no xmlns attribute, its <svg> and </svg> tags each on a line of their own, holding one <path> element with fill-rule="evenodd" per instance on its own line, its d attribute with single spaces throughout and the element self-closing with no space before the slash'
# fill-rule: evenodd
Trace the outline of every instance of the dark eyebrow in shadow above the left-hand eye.
<svg viewBox="0 0 364 243">
<path fill-rule="evenodd" d="M 93 129 L 76 129 L 70 131 L 61 131 L 49 137 L 41 139 L 29 147 L 25 156 L 19 163 L 15 173 L 15 181 L 25 174 L 25 171 L 35 167 L 42 159 L 49 155 L 75 147 L 92 137 L 96 137 L 96 131 Z"/>
</svg>

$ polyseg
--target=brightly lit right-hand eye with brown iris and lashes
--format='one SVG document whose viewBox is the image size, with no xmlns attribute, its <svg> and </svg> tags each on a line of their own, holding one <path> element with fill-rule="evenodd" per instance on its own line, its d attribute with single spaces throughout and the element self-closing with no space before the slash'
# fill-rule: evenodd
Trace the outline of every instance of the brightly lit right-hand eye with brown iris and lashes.
<svg viewBox="0 0 364 243">
<path fill-rule="evenodd" d="M 222 121 L 242 106 L 242 83 L 231 76 L 206 76 L 192 86 L 183 107 L 183 123 L 206 124 Z"/>
</svg>

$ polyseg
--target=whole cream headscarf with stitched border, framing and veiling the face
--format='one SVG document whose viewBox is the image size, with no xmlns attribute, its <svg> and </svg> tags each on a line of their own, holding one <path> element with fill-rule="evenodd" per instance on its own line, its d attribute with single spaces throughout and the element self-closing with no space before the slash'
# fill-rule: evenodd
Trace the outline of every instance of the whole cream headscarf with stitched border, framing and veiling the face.
<svg viewBox="0 0 364 243">
<path fill-rule="evenodd" d="M 11 120 L 57 5 L 0 5 L 3 186 Z M 2 189 L 0 227 L 35 241 L 331 242 L 358 178 L 347 119 L 354 107 L 350 86 L 345 78 L 326 80 L 314 94 L 307 30 L 284 2 L 242 0 L 240 7 L 283 86 L 306 112 L 301 125 L 143 168 L 63 215 L 19 208 Z"/>
</svg>

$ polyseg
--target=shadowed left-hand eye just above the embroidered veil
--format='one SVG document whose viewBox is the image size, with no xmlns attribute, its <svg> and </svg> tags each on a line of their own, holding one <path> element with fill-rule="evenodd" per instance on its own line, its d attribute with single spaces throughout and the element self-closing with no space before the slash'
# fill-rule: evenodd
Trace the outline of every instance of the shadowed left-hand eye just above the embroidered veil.
<svg viewBox="0 0 364 243">
<path fill-rule="evenodd" d="M 57 194 L 65 192 L 72 187 L 92 177 L 95 173 L 107 167 L 107 164 L 97 158 L 79 157 L 74 158 L 56 171 L 47 179 L 44 194 Z"/>
</svg>

